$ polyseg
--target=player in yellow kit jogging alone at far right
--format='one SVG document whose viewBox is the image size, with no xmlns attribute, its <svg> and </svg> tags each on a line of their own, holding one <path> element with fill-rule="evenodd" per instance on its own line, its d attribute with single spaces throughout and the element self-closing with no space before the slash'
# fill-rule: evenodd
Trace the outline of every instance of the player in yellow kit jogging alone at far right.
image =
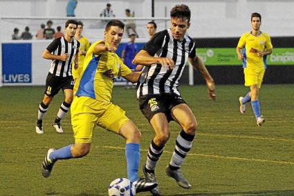
<svg viewBox="0 0 294 196">
<path fill-rule="evenodd" d="M 239 97 L 240 112 L 244 114 L 246 103 L 251 101 L 257 126 L 261 126 L 265 121 L 260 113 L 258 94 L 266 70 L 266 55 L 270 55 L 273 50 L 269 35 L 259 30 L 260 25 L 261 15 L 257 12 L 252 13 L 252 31 L 241 36 L 236 48 L 238 59 L 243 61 L 245 86 L 250 87 L 245 97 Z M 245 50 L 242 52 L 244 47 Z"/>
</svg>

